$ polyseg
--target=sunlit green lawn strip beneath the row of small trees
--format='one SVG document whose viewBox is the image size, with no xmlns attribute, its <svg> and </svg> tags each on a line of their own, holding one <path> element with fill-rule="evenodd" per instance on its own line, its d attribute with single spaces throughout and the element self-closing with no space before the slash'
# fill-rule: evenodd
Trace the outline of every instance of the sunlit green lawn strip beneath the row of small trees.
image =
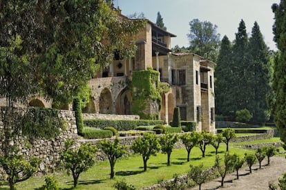
<svg viewBox="0 0 286 190">
<path fill-rule="evenodd" d="M 221 144 L 218 149 L 221 156 L 226 150 L 225 144 Z M 229 148 L 230 153 L 243 155 L 250 150 L 240 149 L 233 146 Z M 152 184 L 158 183 L 158 180 L 168 180 L 175 173 L 179 175 L 188 173 L 190 164 L 203 163 L 204 167 L 211 167 L 215 160 L 215 149 L 212 146 L 207 146 L 206 157 L 201 158 L 201 151 L 195 147 L 191 151 L 191 161 L 187 162 L 187 151 L 185 149 L 175 149 L 171 154 L 171 166 L 166 166 L 166 155 L 158 153 L 157 156 L 151 156 L 148 161 L 148 169 L 143 172 L 143 162 L 140 155 L 122 158 L 115 164 L 115 179 L 110 179 L 109 162 L 99 162 L 88 171 L 79 176 L 79 184 L 75 189 L 114 189 L 115 182 L 125 178 L 128 184 L 133 184 L 137 189 L 149 187 Z M 59 182 L 61 189 L 73 189 L 73 177 L 66 173 L 58 173 L 55 178 Z M 33 177 L 16 185 L 17 189 L 37 189 L 44 184 L 44 177 Z M 6 188 L 8 187 L 0 187 Z"/>
</svg>

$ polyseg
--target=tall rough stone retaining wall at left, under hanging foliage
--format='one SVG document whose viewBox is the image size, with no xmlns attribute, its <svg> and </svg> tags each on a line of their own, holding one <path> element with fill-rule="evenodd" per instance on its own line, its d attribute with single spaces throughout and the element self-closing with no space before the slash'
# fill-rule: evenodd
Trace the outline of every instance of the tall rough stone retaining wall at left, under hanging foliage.
<svg viewBox="0 0 286 190">
<path fill-rule="evenodd" d="M 3 115 L 6 108 L 1 107 L 0 115 Z M 16 111 L 23 115 L 24 108 L 16 108 Z M 2 117 L 1 117 L 2 118 Z M 68 138 L 75 139 L 77 137 L 77 126 L 75 122 L 75 114 L 72 111 L 59 111 L 59 118 L 64 120 L 66 130 L 62 131 L 59 136 L 53 140 L 46 139 L 28 139 L 27 137 L 17 137 L 10 142 L 15 144 L 20 149 L 20 154 L 25 155 L 26 158 L 35 156 L 41 160 L 39 164 L 39 171 L 41 173 L 51 172 L 57 170 L 60 161 L 60 153 L 64 149 L 64 142 Z M 13 120 L 13 117 L 10 118 Z M 3 122 L 0 121 L 0 130 L 3 130 Z M 1 170 L 1 168 L 0 168 Z M 2 176 L 3 177 L 3 176 Z M 1 171 L 0 171 L 1 178 Z"/>
</svg>

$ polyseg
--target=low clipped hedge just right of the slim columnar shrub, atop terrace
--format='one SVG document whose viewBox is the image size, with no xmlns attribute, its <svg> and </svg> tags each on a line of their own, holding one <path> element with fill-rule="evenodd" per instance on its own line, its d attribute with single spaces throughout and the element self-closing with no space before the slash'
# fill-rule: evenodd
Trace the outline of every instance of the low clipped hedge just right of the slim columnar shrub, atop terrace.
<svg viewBox="0 0 286 190">
<path fill-rule="evenodd" d="M 92 127 L 84 127 L 83 137 L 86 139 L 103 139 L 113 136 L 113 132 L 109 130 L 95 129 Z"/>
</svg>

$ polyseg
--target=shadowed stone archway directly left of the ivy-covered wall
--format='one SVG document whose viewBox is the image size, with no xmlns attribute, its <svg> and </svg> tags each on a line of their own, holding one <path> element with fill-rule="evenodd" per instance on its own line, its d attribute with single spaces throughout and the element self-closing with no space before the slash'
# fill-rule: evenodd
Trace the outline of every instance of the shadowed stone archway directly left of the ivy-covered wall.
<svg viewBox="0 0 286 190">
<path fill-rule="evenodd" d="M 131 91 L 126 88 L 117 95 L 116 114 L 131 114 Z"/>
</svg>

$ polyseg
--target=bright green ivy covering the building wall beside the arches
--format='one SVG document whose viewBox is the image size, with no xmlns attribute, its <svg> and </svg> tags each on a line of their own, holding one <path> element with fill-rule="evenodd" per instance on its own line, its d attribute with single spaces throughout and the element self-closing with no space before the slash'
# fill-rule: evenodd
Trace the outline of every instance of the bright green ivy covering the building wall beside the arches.
<svg viewBox="0 0 286 190">
<path fill-rule="evenodd" d="M 159 72 L 156 70 L 133 71 L 132 77 L 132 113 L 140 115 L 144 120 L 158 119 L 156 115 L 144 113 L 146 104 L 150 101 L 159 105 L 160 111 L 162 97 L 159 91 Z"/>
</svg>

